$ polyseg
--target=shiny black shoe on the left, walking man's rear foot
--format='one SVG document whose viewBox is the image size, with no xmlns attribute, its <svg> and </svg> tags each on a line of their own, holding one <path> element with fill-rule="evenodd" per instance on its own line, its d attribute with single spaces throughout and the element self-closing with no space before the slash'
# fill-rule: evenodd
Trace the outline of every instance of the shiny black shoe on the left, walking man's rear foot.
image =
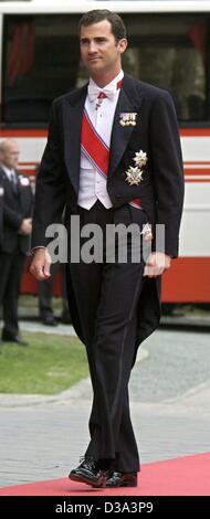
<svg viewBox="0 0 210 519">
<path fill-rule="evenodd" d="M 105 487 L 106 472 L 97 467 L 97 462 L 93 458 L 83 458 L 77 468 L 71 470 L 69 478 L 73 481 L 86 483 L 92 487 Z"/>
</svg>

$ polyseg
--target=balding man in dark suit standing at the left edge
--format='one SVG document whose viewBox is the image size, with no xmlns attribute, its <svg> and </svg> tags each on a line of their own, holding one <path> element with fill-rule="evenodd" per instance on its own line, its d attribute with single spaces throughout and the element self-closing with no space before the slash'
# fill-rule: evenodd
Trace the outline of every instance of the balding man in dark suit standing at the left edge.
<svg viewBox="0 0 210 519">
<path fill-rule="evenodd" d="M 0 186 L 3 189 L 3 241 L 0 247 L 0 305 L 3 307 L 2 340 L 22 346 L 19 337 L 18 296 L 23 262 L 31 234 L 32 189 L 28 177 L 17 171 L 18 144 L 0 142 Z"/>
</svg>

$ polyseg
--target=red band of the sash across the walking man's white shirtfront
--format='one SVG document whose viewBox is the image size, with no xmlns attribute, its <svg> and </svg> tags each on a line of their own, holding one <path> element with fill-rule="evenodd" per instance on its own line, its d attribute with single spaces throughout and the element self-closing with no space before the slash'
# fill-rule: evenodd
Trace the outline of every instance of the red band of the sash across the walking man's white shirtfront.
<svg viewBox="0 0 210 519">
<path fill-rule="evenodd" d="M 83 114 L 81 142 L 98 169 L 107 177 L 109 149 L 106 148 L 99 136 L 94 131 L 85 112 Z"/>
</svg>

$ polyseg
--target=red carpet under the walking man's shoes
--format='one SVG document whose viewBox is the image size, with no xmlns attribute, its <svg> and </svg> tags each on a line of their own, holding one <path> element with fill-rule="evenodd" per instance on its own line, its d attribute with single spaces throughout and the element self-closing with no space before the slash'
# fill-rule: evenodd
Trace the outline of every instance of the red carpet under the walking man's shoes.
<svg viewBox="0 0 210 519">
<path fill-rule="evenodd" d="M 210 453 L 143 465 L 136 488 L 94 489 L 69 478 L 0 488 L 0 496 L 210 496 Z"/>
</svg>

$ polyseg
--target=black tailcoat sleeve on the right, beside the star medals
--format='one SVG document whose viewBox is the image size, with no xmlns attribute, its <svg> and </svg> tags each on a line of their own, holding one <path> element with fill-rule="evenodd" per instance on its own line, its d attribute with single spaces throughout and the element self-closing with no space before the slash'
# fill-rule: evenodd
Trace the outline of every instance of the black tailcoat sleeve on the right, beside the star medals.
<svg viewBox="0 0 210 519">
<path fill-rule="evenodd" d="M 155 98 L 151 106 L 150 148 L 157 223 L 165 225 L 166 254 L 177 257 L 183 204 L 183 170 L 175 106 L 166 91 Z"/>
</svg>

